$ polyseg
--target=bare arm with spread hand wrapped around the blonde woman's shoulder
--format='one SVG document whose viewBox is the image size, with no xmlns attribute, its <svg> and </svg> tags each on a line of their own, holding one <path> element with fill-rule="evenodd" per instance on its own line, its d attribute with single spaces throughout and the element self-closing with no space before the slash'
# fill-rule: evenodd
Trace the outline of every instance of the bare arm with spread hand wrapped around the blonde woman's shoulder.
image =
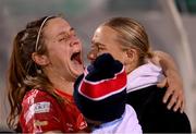
<svg viewBox="0 0 196 134">
<path fill-rule="evenodd" d="M 174 111 L 181 109 L 181 112 L 183 112 L 185 107 L 183 82 L 174 60 L 166 52 L 154 51 L 152 62 L 160 65 L 167 76 L 163 82 L 158 84 L 159 87 L 168 86 L 163 102 L 169 101 L 168 109 L 173 107 Z"/>
</svg>

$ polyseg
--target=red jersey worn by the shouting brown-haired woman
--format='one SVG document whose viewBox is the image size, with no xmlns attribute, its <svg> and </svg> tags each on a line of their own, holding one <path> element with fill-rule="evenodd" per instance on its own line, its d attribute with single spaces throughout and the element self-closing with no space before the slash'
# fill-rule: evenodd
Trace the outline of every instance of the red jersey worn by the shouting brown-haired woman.
<svg viewBox="0 0 196 134">
<path fill-rule="evenodd" d="M 73 97 L 58 89 L 54 92 L 69 103 L 61 106 L 48 93 L 38 89 L 32 89 L 24 96 L 20 117 L 23 133 L 78 132 L 87 126 Z"/>
</svg>

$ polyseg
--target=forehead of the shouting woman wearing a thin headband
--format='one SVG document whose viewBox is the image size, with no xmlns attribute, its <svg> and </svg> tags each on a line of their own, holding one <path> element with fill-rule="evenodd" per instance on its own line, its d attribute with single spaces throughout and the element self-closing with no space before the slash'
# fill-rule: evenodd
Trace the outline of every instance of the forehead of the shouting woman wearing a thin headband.
<svg viewBox="0 0 196 134">
<path fill-rule="evenodd" d="M 44 34 L 47 37 L 58 36 L 59 33 L 70 32 L 70 24 L 62 17 L 51 19 L 47 22 L 47 25 L 44 27 Z"/>
</svg>

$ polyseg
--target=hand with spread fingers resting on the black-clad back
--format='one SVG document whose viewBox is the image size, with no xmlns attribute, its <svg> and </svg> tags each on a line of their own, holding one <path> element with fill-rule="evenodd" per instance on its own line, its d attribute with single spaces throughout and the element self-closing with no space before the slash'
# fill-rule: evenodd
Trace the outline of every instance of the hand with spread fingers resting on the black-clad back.
<svg viewBox="0 0 196 134">
<path fill-rule="evenodd" d="M 183 84 L 179 73 L 176 71 L 171 71 L 157 86 L 168 87 L 163 97 L 164 103 L 169 101 L 167 108 L 171 109 L 173 107 L 173 111 L 177 111 L 180 109 L 181 113 L 183 113 L 185 108 L 185 98 Z"/>
</svg>

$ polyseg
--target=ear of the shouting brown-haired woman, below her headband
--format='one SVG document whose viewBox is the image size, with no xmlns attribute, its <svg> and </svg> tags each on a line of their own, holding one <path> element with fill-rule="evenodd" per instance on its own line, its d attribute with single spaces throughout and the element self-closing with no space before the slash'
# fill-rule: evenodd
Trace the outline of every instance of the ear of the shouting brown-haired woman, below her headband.
<svg viewBox="0 0 196 134">
<path fill-rule="evenodd" d="M 46 54 L 38 54 L 37 52 L 32 53 L 32 59 L 34 60 L 35 63 L 41 66 L 48 65 L 50 63 Z"/>
</svg>

